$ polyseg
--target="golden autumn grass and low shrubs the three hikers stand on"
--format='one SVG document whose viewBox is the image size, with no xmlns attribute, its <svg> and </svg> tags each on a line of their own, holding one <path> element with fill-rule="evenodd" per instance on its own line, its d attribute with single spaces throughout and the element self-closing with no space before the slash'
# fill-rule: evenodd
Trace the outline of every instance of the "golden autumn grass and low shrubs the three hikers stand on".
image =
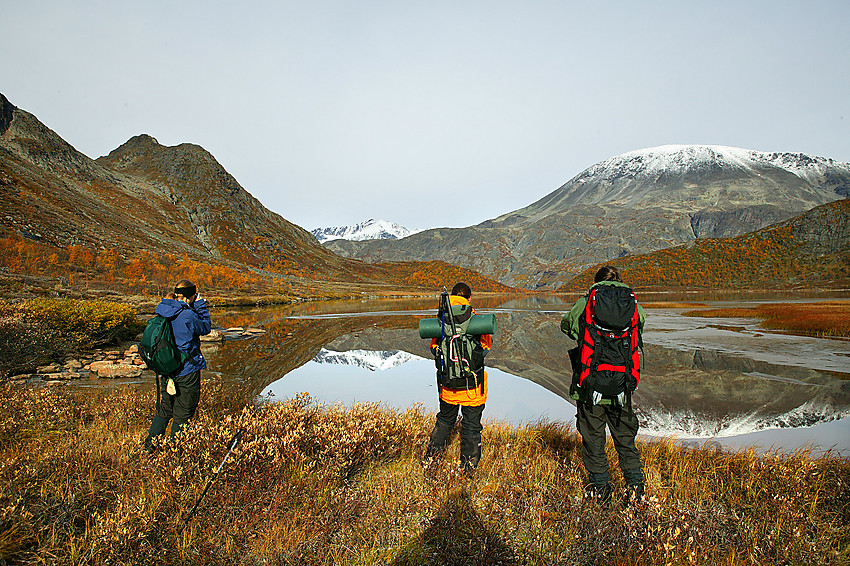
<svg viewBox="0 0 850 566">
<path fill-rule="evenodd" d="M 582 501 L 568 426 L 489 423 L 473 479 L 457 439 L 425 473 L 418 407 L 238 407 L 205 383 L 178 446 L 141 449 L 149 391 L 5 386 L 0 561 L 9 564 L 840 564 L 850 461 L 644 442 L 647 498 Z M 195 518 L 234 432 L 245 429 Z M 612 461 L 616 461 L 609 446 Z M 613 478 L 622 488 L 616 468 Z"/>
</svg>

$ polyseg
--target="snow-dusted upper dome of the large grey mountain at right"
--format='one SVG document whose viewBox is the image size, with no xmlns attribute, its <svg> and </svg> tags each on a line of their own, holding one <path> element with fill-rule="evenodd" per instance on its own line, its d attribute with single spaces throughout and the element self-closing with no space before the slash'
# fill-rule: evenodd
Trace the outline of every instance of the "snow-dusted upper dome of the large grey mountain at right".
<svg viewBox="0 0 850 566">
<path fill-rule="evenodd" d="M 528 218 L 528 213 L 576 205 L 647 208 L 663 202 L 682 208 L 695 202 L 722 209 L 724 204 L 758 206 L 784 197 L 799 202 L 799 212 L 850 197 L 850 163 L 716 145 L 641 149 L 589 167 L 557 191 L 511 213 L 510 221 L 517 220 L 517 213 Z"/>
</svg>

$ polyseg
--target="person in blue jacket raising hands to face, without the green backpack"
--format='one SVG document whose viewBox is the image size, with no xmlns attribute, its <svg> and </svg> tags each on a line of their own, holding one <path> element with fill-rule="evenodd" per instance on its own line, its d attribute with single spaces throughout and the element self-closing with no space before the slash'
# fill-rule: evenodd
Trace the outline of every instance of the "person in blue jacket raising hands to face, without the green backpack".
<svg viewBox="0 0 850 566">
<path fill-rule="evenodd" d="M 156 413 L 151 421 L 145 449 L 153 451 L 153 439 L 165 434 L 171 420 L 171 438 L 195 415 L 201 398 L 201 370 L 207 362 L 201 354 L 200 337 L 210 333 L 210 314 L 207 302 L 201 298 L 194 283 L 186 279 L 177 283 L 156 307 L 156 314 L 171 322 L 177 347 L 189 358 L 174 375 L 162 376 L 157 391 Z"/>
</svg>

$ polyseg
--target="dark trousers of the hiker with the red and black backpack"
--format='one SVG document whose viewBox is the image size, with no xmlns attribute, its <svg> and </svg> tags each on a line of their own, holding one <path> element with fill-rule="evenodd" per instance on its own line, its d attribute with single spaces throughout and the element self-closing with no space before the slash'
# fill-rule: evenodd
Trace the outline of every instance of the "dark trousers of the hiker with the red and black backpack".
<svg viewBox="0 0 850 566">
<path fill-rule="evenodd" d="M 629 485 L 643 483 L 643 466 L 635 446 L 638 420 L 633 410 L 620 405 L 591 405 L 579 402 L 576 427 L 581 433 L 581 459 L 594 484 L 608 483 L 605 426 L 611 431 L 620 469 Z"/>
</svg>

